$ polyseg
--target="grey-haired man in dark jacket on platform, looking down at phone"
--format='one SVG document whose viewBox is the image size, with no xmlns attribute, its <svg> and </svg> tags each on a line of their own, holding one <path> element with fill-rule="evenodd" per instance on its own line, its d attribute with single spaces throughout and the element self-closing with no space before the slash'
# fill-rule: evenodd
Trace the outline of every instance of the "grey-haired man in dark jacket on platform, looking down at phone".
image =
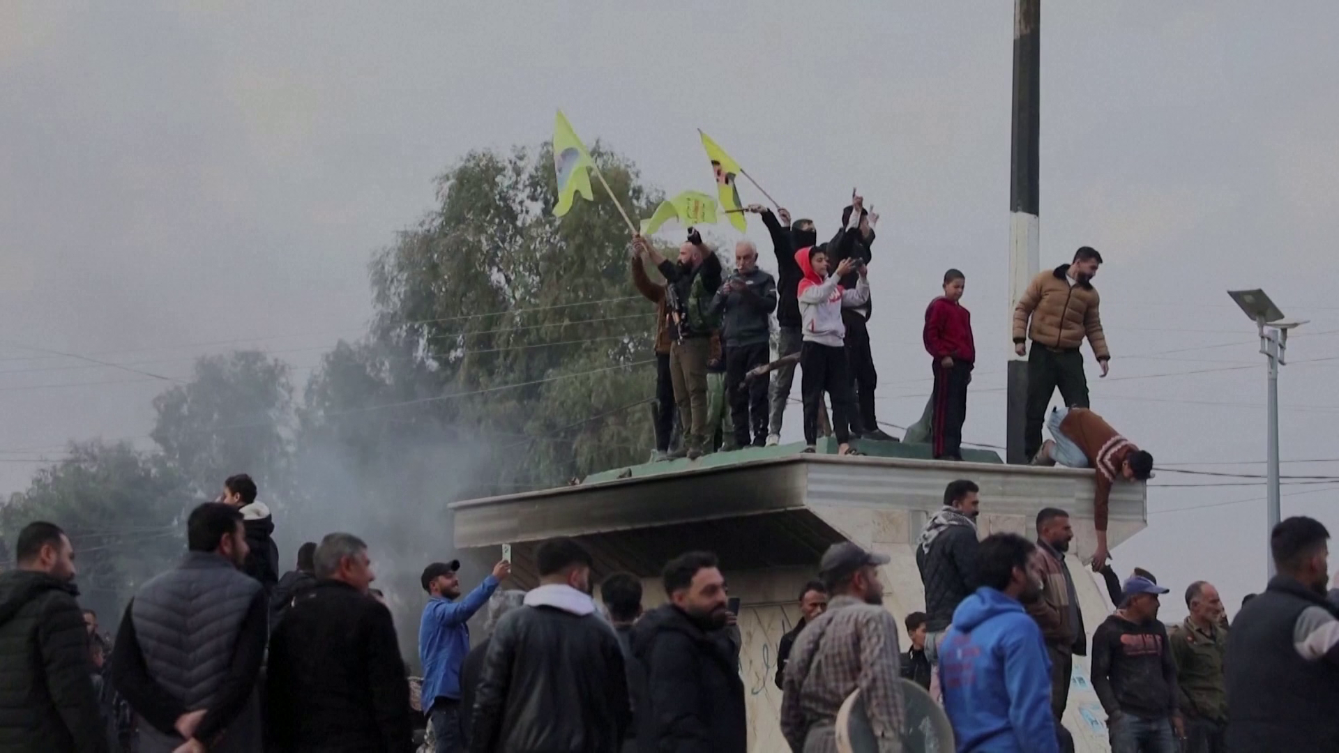
<svg viewBox="0 0 1339 753">
<path fill-rule="evenodd" d="M 771 360 L 775 308 L 777 283 L 758 268 L 758 247 L 749 240 L 736 243 L 735 273 L 716 291 L 708 315 L 724 315 L 726 395 L 739 449 L 750 442 L 761 448 L 767 441 L 767 383 L 744 383 L 744 374 Z"/>
</svg>

